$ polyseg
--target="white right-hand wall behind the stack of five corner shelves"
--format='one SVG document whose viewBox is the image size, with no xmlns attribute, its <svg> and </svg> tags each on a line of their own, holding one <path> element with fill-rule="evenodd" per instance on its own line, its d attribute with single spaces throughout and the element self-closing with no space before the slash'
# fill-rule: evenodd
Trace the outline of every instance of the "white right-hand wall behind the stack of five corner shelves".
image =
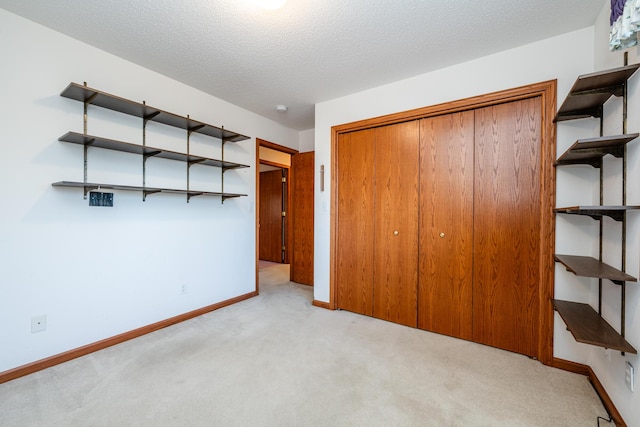
<svg viewBox="0 0 640 427">
<path fill-rule="evenodd" d="M 624 64 L 623 52 L 610 52 L 609 41 L 609 8 L 603 11 L 595 25 L 595 68 L 605 70 L 620 67 Z M 627 50 L 629 64 L 640 62 L 640 51 L 637 47 Z M 628 89 L 628 122 L 627 132 L 640 132 L 640 73 L 636 73 L 629 80 Z M 613 98 L 605 105 L 605 135 L 622 133 L 622 103 L 619 98 Z M 597 134 L 596 134 L 597 135 Z M 605 171 L 605 199 L 607 203 L 621 203 L 621 184 L 619 181 L 620 162 L 611 158 L 604 165 Z M 640 205 L 640 139 L 636 139 L 627 146 L 627 204 Z M 610 254 L 608 260 L 612 265 L 620 266 L 620 228 L 609 222 L 605 228 L 605 254 Z M 627 220 L 627 263 L 626 271 L 634 277 L 640 275 L 640 214 L 630 213 Z M 637 350 L 640 350 L 640 285 L 627 284 L 626 337 Z M 593 304 L 597 304 L 597 288 L 591 293 Z M 604 286 L 603 312 L 609 323 L 620 327 L 620 287 L 606 283 Z M 619 329 L 618 329 L 619 330 Z M 638 355 L 611 352 L 608 359 L 602 349 L 591 348 L 589 365 L 603 383 L 607 392 L 629 425 L 640 426 L 640 388 L 635 393 L 629 391 L 624 382 L 625 362 L 629 361 L 640 369 Z M 640 376 L 636 374 L 636 382 Z"/>
</svg>

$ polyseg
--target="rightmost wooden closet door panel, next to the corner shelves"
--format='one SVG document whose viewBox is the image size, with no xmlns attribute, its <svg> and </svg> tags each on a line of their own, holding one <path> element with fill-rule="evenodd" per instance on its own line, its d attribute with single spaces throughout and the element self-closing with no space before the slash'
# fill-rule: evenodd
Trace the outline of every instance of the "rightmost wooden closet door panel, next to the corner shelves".
<svg viewBox="0 0 640 427">
<path fill-rule="evenodd" d="M 538 350 L 541 99 L 476 110 L 473 339 Z"/>
</svg>

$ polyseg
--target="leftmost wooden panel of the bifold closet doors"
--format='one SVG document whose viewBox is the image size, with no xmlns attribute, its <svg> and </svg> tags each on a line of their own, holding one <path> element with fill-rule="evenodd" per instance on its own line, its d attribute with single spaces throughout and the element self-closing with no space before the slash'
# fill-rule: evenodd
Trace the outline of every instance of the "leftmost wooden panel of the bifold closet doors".
<svg viewBox="0 0 640 427">
<path fill-rule="evenodd" d="M 374 130 L 340 135 L 336 304 L 368 316 L 373 315 L 374 154 Z"/>
</svg>

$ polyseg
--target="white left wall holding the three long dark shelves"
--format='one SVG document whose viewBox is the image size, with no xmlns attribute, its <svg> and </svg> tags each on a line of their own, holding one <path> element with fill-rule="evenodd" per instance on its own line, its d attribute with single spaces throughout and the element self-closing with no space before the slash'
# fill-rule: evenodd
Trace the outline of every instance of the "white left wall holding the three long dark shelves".
<svg viewBox="0 0 640 427">
<path fill-rule="evenodd" d="M 298 132 L 0 9 L 0 372 L 255 290 L 255 137 L 298 148 Z M 251 136 L 225 159 L 227 200 L 116 192 L 89 207 L 77 189 L 82 104 L 59 96 L 89 86 Z M 141 122 L 97 107 L 89 133 L 141 142 Z M 150 124 L 147 143 L 185 149 L 183 132 Z M 218 140 L 192 138 L 218 157 Z M 138 156 L 93 149 L 89 180 L 141 184 Z M 150 159 L 148 185 L 184 188 L 186 166 Z M 192 188 L 217 191 L 220 171 L 194 166 Z M 183 284 L 188 293 L 181 295 Z M 31 316 L 48 328 L 31 333 Z"/>
</svg>

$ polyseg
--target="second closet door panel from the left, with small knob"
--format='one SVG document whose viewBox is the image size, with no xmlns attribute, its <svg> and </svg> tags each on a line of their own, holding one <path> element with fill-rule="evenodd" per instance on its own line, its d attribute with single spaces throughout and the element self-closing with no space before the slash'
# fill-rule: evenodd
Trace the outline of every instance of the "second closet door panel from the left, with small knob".
<svg viewBox="0 0 640 427">
<path fill-rule="evenodd" d="M 373 315 L 417 325 L 417 121 L 376 129 Z M 371 212 L 369 215 L 371 216 Z"/>
</svg>

